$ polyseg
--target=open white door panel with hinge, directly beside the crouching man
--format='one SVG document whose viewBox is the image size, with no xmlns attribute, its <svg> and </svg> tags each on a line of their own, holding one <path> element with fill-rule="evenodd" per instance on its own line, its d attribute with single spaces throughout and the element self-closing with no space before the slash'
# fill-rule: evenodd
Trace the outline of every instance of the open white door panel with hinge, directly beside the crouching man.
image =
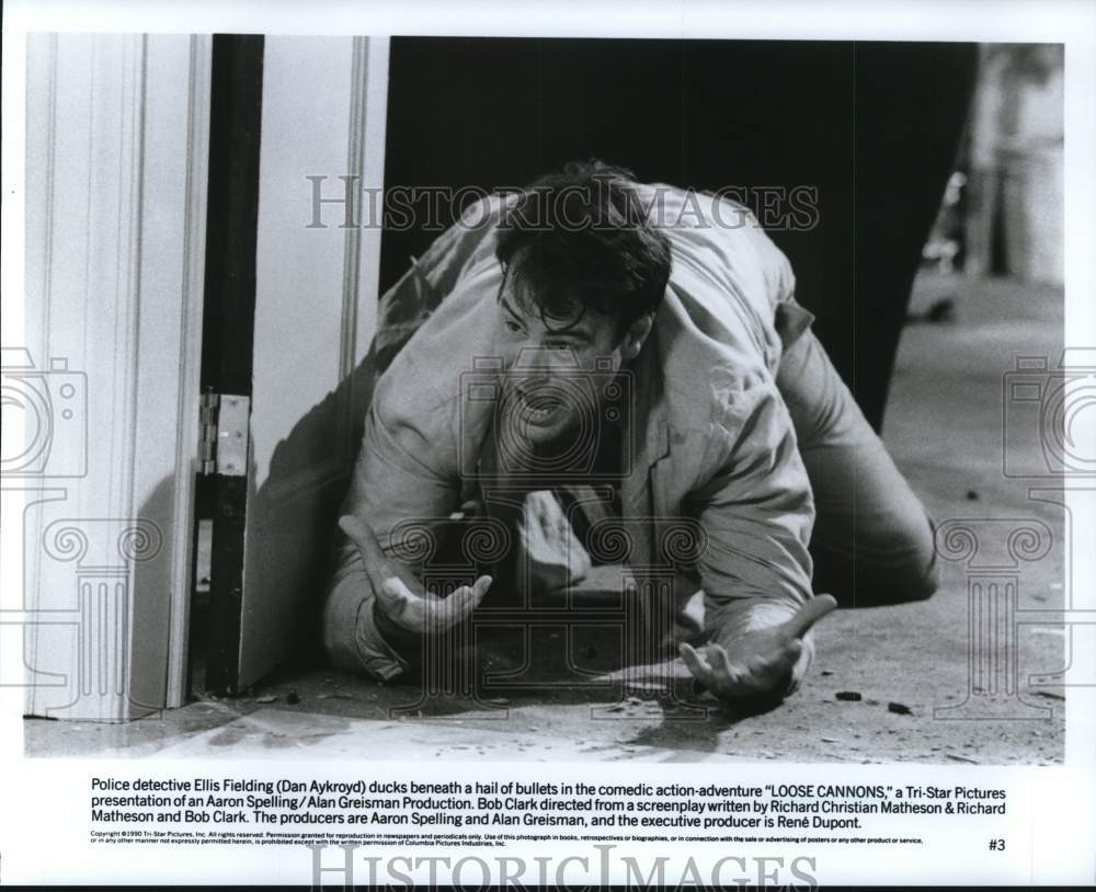
<svg viewBox="0 0 1096 892">
<path fill-rule="evenodd" d="M 322 596 L 328 513 L 353 470 L 363 399 L 354 373 L 369 353 L 379 297 L 373 205 L 384 184 L 388 53 L 387 37 L 265 38 L 236 689 L 304 644 L 301 618 L 318 614 Z M 313 228 L 317 194 L 335 204 Z M 349 227 L 346 197 L 357 211 Z"/>
</svg>

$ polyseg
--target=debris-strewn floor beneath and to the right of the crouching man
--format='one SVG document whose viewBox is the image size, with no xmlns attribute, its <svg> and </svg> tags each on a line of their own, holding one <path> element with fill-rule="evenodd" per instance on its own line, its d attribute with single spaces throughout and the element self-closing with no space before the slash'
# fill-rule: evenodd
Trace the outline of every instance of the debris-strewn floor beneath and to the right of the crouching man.
<svg viewBox="0 0 1096 892">
<path fill-rule="evenodd" d="M 1037 481 L 1002 472 L 1002 385 L 1016 356 L 1043 354 L 1055 362 L 1061 354 L 1061 291 L 926 274 L 912 313 L 941 298 L 955 300 L 952 321 L 911 322 L 903 335 L 884 438 L 938 523 L 1047 524 L 1054 547 L 1023 565 L 1018 604 L 1059 606 L 1062 513 L 1027 498 Z M 1035 460 L 1036 439 L 1028 439 L 1027 457 Z M 1004 542 L 989 538 L 980 553 L 997 563 L 1007 557 Z M 945 563 L 943 572 L 944 584 L 929 602 L 827 617 L 818 627 L 818 656 L 802 689 L 760 716 L 712 710 L 697 717 L 650 697 L 625 697 L 618 688 L 573 686 L 506 691 L 493 702 L 439 697 L 416 705 L 418 687 L 319 668 L 272 679 L 253 696 L 206 697 L 126 725 L 27 720 L 26 746 L 35 755 L 233 758 L 1061 762 L 1063 689 L 1032 686 L 1028 677 L 1065 665 L 1063 630 L 1019 627 L 1023 702 L 972 694 L 969 568 Z M 964 701 L 966 713 L 938 711 Z"/>
</svg>

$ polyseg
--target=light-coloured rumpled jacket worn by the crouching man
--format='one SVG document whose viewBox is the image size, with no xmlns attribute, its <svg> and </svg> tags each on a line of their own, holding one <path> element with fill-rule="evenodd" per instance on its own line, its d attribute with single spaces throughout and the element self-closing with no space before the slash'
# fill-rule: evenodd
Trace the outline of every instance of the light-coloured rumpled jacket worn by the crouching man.
<svg viewBox="0 0 1096 892">
<path fill-rule="evenodd" d="M 673 565 L 682 524 L 698 527 L 690 570 L 703 595 L 693 598 L 693 614 L 703 598 L 705 630 L 732 643 L 744 630 L 783 621 L 811 596 L 813 501 L 774 380 L 784 347 L 810 315 L 795 302 L 787 259 L 740 205 L 669 186 L 637 188 L 670 239 L 673 266 L 630 367 L 635 411 L 624 439 L 633 454 L 623 459 L 629 472 L 620 482 L 630 565 L 640 579 L 647 568 Z M 369 524 L 386 548 L 401 522 L 441 522 L 475 487 L 493 410 L 482 398 L 484 376 L 490 357 L 501 355 L 501 202 L 472 205 L 381 301 L 378 350 L 386 339 L 402 340 L 401 327 L 414 334 L 377 381 L 344 513 Z M 418 309 L 409 315 L 409 306 Z M 391 677 L 407 657 L 372 621 L 373 593 L 354 547 L 342 539 L 336 554 L 328 650 L 339 663 Z"/>
</svg>

